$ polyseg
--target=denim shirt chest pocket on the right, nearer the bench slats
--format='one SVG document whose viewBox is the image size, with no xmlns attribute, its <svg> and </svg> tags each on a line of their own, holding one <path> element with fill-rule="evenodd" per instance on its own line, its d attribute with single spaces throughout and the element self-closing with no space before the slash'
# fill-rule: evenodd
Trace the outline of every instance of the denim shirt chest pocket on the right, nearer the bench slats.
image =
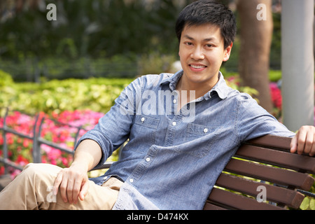
<svg viewBox="0 0 315 224">
<path fill-rule="evenodd" d="M 176 151 L 178 153 L 194 155 L 197 158 L 203 158 L 211 151 L 211 146 L 216 142 L 220 130 L 220 127 L 189 123 L 183 147 L 176 148 Z"/>
</svg>

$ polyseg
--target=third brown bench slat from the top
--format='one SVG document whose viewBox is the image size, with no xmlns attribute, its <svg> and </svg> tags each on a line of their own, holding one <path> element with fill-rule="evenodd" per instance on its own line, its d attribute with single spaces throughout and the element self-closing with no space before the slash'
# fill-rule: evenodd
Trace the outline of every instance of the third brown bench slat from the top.
<svg viewBox="0 0 315 224">
<path fill-rule="evenodd" d="M 307 174 L 260 165 L 254 162 L 236 160 L 234 158 L 230 160 L 224 170 L 226 172 L 241 174 L 255 179 L 288 186 L 289 188 L 300 188 L 302 190 L 309 190 L 314 183 L 314 179 Z"/>
</svg>

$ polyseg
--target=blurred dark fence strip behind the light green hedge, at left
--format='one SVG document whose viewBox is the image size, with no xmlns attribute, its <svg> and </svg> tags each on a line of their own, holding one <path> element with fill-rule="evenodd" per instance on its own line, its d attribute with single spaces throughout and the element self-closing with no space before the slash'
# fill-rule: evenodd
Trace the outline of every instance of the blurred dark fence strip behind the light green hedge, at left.
<svg viewBox="0 0 315 224">
<path fill-rule="evenodd" d="M 36 83 L 40 83 L 41 78 L 134 78 L 139 74 L 137 62 L 127 58 L 117 61 L 90 58 L 50 59 L 45 62 L 36 58 L 26 58 L 18 62 L 0 59 L 0 70 L 10 73 L 15 81 Z"/>
</svg>

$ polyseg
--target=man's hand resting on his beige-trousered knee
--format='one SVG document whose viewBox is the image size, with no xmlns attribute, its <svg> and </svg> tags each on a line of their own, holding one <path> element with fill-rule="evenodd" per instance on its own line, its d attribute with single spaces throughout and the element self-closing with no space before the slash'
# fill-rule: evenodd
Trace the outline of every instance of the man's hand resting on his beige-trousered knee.
<svg viewBox="0 0 315 224">
<path fill-rule="evenodd" d="M 62 169 L 52 188 L 54 195 L 57 195 L 58 188 L 60 188 L 60 194 L 65 203 L 76 204 L 78 198 L 83 201 L 89 188 L 87 170 L 78 165 Z"/>
</svg>

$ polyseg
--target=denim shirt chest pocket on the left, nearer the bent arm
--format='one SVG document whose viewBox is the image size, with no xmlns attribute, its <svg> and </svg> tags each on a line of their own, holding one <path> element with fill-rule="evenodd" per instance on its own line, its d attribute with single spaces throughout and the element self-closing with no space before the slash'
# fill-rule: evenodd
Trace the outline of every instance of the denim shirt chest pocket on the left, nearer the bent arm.
<svg viewBox="0 0 315 224">
<path fill-rule="evenodd" d="M 133 151 L 142 152 L 155 144 L 155 134 L 160 120 L 143 115 L 137 115 L 134 119 L 130 143 L 133 144 Z"/>
</svg>

